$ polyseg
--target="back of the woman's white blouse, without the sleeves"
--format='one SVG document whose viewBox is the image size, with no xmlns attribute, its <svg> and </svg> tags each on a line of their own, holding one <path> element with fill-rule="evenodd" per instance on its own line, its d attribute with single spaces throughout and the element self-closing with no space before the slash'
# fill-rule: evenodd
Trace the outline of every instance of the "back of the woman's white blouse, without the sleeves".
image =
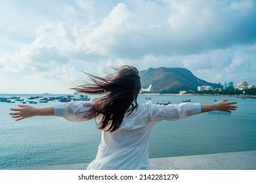
<svg viewBox="0 0 256 183">
<path fill-rule="evenodd" d="M 102 131 L 98 153 L 87 169 L 149 169 L 148 139 L 153 124 L 146 105 L 123 118 L 114 132 Z"/>
</svg>

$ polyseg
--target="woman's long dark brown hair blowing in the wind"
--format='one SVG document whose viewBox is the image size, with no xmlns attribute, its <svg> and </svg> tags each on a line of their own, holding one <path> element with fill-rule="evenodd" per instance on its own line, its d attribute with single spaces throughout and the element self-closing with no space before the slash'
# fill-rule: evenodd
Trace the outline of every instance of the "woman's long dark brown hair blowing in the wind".
<svg viewBox="0 0 256 183">
<path fill-rule="evenodd" d="M 85 82 L 81 86 L 72 88 L 81 93 L 102 94 L 94 103 L 84 118 L 102 116 L 99 129 L 113 132 L 118 129 L 126 114 L 131 114 L 137 108 L 137 96 L 141 84 L 137 68 L 125 65 L 116 69 L 116 73 L 106 77 L 85 73 L 93 83 Z M 86 105 L 86 104 L 85 104 Z"/>
</svg>

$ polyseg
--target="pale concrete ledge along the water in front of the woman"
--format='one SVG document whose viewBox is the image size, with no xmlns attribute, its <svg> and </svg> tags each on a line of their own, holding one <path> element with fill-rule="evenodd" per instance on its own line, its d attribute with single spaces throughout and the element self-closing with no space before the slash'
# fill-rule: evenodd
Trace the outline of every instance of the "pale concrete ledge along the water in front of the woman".
<svg viewBox="0 0 256 183">
<path fill-rule="evenodd" d="M 14 170 L 85 170 L 88 163 L 17 167 Z M 256 150 L 150 159 L 153 170 L 256 170 Z"/>
</svg>

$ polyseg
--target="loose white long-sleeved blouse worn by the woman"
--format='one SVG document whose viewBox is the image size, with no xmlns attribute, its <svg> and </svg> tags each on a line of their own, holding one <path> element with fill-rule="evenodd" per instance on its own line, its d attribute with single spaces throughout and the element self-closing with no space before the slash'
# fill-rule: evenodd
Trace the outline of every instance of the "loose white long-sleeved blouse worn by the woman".
<svg viewBox="0 0 256 183">
<path fill-rule="evenodd" d="M 90 108 L 83 103 L 60 103 L 54 105 L 54 116 L 82 122 L 88 120 L 83 116 Z M 154 105 L 148 101 L 139 105 L 116 131 L 102 131 L 98 153 L 87 169 L 150 169 L 148 139 L 152 127 L 162 120 L 178 120 L 200 112 L 199 103 Z"/>
</svg>

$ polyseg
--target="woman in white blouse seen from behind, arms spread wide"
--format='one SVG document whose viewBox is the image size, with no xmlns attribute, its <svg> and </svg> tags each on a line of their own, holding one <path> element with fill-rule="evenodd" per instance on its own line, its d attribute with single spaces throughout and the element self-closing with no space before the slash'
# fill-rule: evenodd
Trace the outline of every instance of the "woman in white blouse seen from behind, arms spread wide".
<svg viewBox="0 0 256 183">
<path fill-rule="evenodd" d="M 11 108 L 12 118 L 23 120 L 32 116 L 60 116 L 66 120 L 82 122 L 95 118 L 102 130 L 98 153 L 87 169 L 150 169 L 148 139 L 154 125 L 162 120 L 178 120 L 194 114 L 220 110 L 236 110 L 236 102 L 227 99 L 214 104 L 181 103 L 154 105 L 150 101 L 139 105 L 139 71 L 123 66 L 116 74 L 99 77 L 87 74 L 92 83 L 85 83 L 77 92 L 100 94 L 92 103 L 61 103 L 53 107 L 34 108 L 19 105 Z"/>
</svg>

